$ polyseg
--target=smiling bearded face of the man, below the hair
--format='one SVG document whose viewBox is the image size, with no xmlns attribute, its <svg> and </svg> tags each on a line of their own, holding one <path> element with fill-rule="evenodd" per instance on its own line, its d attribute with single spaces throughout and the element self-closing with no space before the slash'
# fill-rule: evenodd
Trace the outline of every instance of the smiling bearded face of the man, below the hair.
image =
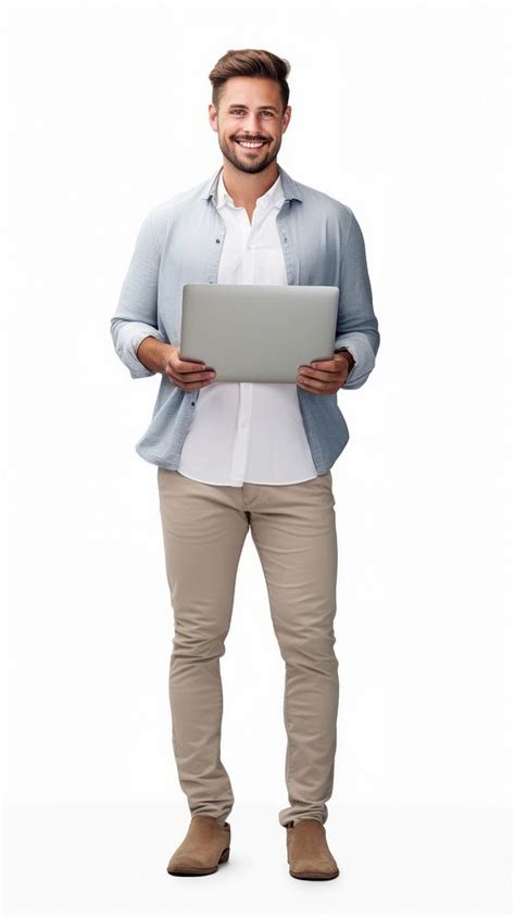
<svg viewBox="0 0 515 917">
<path fill-rule="evenodd" d="M 278 84 L 255 76 L 233 76 L 225 83 L 218 112 L 210 104 L 210 123 L 218 134 L 219 148 L 241 172 L 263 172 L 280 150 L 291 108 L 282 113 Z M 244 147 L 241 140 L 261 146 Z"/>
</svg>

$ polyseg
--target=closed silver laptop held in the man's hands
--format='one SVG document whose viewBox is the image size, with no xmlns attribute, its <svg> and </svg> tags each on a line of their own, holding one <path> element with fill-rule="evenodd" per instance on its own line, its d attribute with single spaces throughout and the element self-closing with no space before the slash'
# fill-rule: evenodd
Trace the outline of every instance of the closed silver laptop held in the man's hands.
<svg viewBox="0 0 515 917">
<path fill-rule="evenodd" d="M 338 287 L 185 284 L 180 357 L 217 382 L 294 382 L 301 364 L 330 360 Z"/>
</svg>

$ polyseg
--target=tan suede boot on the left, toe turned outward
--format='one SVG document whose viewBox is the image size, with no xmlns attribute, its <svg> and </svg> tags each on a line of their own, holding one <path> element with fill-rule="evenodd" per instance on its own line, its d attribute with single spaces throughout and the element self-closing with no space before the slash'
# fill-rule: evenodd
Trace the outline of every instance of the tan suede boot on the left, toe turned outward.
<svg viewBox="0 0 515 917">
<path fill-rule="evenodd" d="M 230 825 L 211 815 L 193 815 L 188 832 L 172 856 L 171 876 L 206 876 L 226 863 L 230 850 Z"/>
</svg>

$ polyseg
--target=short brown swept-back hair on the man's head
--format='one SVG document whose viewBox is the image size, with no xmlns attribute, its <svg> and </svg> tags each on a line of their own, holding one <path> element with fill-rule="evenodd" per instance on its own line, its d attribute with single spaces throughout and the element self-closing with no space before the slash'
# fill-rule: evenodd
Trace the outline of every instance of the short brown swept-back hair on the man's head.
<svg viewBox="0 0 515 917">
<path fill-rule="evenodd" d="M 224 83 L 231 76 L 261 76 L 275 79 L 279 84 L 282 111 L 285 111 L 290 97 L 290 87 L 286 81 L 289 72 L 289 62 L 273 54 L 272 51 L 255 50 L 254 48 L 227 51 L 210 73 L 210 80 L 213 86 L 213 105 L 215 109 L 218 108 Z"/>
</svg>

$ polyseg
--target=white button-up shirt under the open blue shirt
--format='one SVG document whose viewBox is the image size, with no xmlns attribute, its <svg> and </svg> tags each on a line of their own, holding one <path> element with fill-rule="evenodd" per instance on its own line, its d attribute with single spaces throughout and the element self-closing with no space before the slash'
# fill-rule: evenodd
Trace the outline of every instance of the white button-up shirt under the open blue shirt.
<svg viewBox="0 0 515 917">
<path fill-rule="evenodd" d="M 280 175 L 258 198 L 252 222 L 235 206 L 222 172 L 216 206 L 227 226 L 218 284 L 287 284 L 276 217 Z M 214 367 L 216 370 L 216 366 Z M 297 384 L 210 382 L 199 390 L 178 472 L 204 483 L 242 487 L 298 483 L 316 477 Z"/>
</svg>

